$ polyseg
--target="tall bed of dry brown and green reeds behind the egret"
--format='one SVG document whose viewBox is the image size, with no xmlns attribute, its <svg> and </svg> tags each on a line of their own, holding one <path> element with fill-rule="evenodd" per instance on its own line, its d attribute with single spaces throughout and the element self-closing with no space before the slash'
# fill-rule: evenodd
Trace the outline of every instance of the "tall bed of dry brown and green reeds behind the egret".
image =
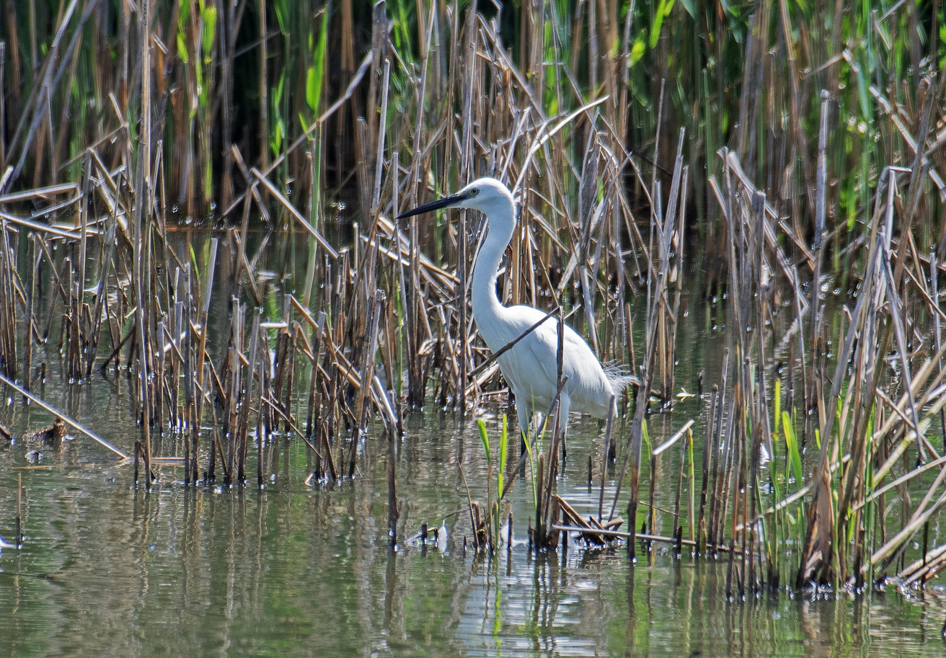
<svg viewBox="0 0 946 658">
<path fill-rule="evenodd" d="M 564 529 L 652 550 L 656 464 L 678 441 L 672 539 L 725 553 L 733 594 L 946 564 L 925 539 L 904 558 L 946 504 L 937 3 L 5 7 L 0 365 L 26 395 L 34 347 L 58 341 L 68 385 L 130 377 L 146 484 L 166 463 L 244 483 L 255 450 L 263 485 L 278 428 L 313 478 L 352 477 L 374 415 L 394 453 L 412 408 L 507 403 L 466 302 L 482 219 L 394 219 L 488 175 L 519 200 L 501 298 L 557 309 L 640 378 L 594 467 L 597 518 L 557 495 L 557 428 L 525 438 L 536 548 Z M 213 240 L 172 248 L 193 222 Z M 656 445 L 694 263 L 725 293 L 727 356 L 699 391 L 704 436 Z M 833 287 L 850 291 L 840 326 Z M 499 543 L 514 479 L 479 521 L 470 501 L 477 547 Z M 396 542 L 393 463 L 389 506 Z"/>
</svg>

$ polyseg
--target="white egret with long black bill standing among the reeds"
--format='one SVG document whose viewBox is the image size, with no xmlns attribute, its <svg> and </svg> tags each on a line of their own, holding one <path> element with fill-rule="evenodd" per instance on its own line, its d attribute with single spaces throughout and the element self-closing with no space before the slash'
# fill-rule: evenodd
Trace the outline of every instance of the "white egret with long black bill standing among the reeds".
<svg viewBox="0 0 946 658">
<path fill-rule="evenodd" d="M 459 192 L 421 205 L 397 219 L 439 208 L 471 208 L 486 216 L 488 233 L 473 265 L 472 304 L 477 329 L 494 353 L 542 320 L 546 313 L 530 306 L 505 307 L 496 296 L 499 262 L 516 228 L 516 204 L 495 178 L 480 178 Z M 569 411 L 607 418 L 617 395 L 637 378 L 604 368 L 574 329 L 565 327 L 562 375 L 567 376 L 559 406 L 559 426 L 568 428 Z M 499 356 L 502 376 L 516 395 L 519 426 L 528 434 L 534 412 L 552 404 L 558 382 L 558 323 L 549 318 Z"/>
</svg>

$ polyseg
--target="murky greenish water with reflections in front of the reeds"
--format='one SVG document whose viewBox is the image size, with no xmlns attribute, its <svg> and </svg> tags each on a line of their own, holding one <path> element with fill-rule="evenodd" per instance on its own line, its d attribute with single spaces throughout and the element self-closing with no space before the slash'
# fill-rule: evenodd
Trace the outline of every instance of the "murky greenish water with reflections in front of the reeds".
<svg viewBox="0 0 946 658">
<path fill-rule="evenodd" d="M 690 309 L 688 301 L 678 385 L 694 391 L 693 373 L 705 369 L 706 382 L 718 377 L 724 338 L 715 311 Z M 96 374 L 68 386 L 59 358 L 46 361 L 40 395 L 131 451 L 127 378 Z M 698 405 L 681 400 L 673 414 L 652 418 L 655 444 L 698 418 Z M 499 412 L 483 413 L 495 423 Z M 50 420 L 19 400 L 0 409 L 16 434 Z M 402 541 L 396 552 L 387 547 L 387 450 L 377 432 L 357 478 L 327 487 L 306 484 L 301 441 L 274 437 L 263 451 L 263 490 L 185 488 L 180 471 L 164 468 L 145 492 L 132 487 L 131 464 L 81 436 L 35 463 L 27 457 L 37 456 L 28 454 L 36 446 L 0 444 L 0 533 L 13 534 L 20 473 L 27 537 L 22 550 L 0 554 L 0 655 L 946 654 L 941 578 L 910 596 L 890 588 L 854 598 L 732 602 L 723 595 L 726 562 L 674 560 L 659 548 L 634 566 L 622 550 L 577 544 L 537 560 L 524 543 L 477 558 L 464 552 L 468 516 L 453 513 L 465 507 L 464 475 L 471 495 L 485 499 L 474 418 L 429 412 L 408 426 L 396 456 L 400 537 L 427 523 L 444 525 L 447 539 Z M 594 421 L 572 423 L 559 491 L 582 512 L 597 508 L 587 457 L 597 483 L 601 437 Z M 156 440 L 157 454 L 176 449 L 172 436 Z M 674 452 L 660 463 L 664 482 L 675 477 Z M 608 488 L 614 484 L 611 472 Z M 657 488 L 658 507 L 673 507 L 670 489 Z M 530 499 L 518 482 L 511 491 L 517 538 L 525 536 Z M 669 518 L 658 519 L 657 532 L 669 534 Z M 944 535 L 946 528 L 932 527 L 931 545 Z"/>
</svg>

